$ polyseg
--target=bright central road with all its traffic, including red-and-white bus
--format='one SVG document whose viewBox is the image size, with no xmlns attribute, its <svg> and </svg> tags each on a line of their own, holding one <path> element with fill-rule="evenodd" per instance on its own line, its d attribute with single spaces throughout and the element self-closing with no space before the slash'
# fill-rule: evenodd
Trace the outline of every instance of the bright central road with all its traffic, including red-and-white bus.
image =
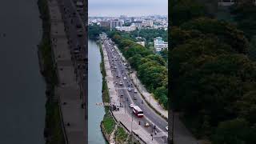
<svg viewBox="0 0 256 144">
<path fill-rule="evenodd" d="M 109 38 L 102 40 L 106 48 L 110 62 L 111 74 L 114 78 L 114 86 L 118 94 L 118 103 L 112 110 L 125 109 L 135 122 L 138 122 L 144 130 L 153 135 L 158 143 L 165 143 L 168 137 L 168 122 L 158 115 L 142 98 L 139 87 L 130 79 L 130 66 L 126 60 L 118 54 L 114 42 Z M 167 129 L 166 129 L 167 128 Z"/>
</svg>

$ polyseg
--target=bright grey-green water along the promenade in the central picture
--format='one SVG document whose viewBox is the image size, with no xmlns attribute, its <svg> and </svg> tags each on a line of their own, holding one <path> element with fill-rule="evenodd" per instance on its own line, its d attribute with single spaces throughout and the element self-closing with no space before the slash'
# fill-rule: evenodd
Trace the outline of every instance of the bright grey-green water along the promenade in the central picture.
<svg viewBox="0 0 256 144">
<path fill-rule="evenodd" d="M 102 74 L 100 63 L 102 61 L 100 48 L 96 42 L 88 41 L 88 142 L 94 144 L 104 144 L 100 124 L 105 114 L 104 107 L 96 106 L 97 102 L 102 102 Z"/>
</svg>

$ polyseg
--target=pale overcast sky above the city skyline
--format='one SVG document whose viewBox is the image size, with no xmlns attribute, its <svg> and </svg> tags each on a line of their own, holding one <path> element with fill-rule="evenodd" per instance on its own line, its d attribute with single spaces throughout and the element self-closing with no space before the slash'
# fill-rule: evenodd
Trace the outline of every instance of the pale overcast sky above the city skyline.
<svg viewBox="0 0 256 144">
<path fill-rule="evenodd" d="M 168 0 L 88 0 L 89 16 L 167 15 Z"/>
</svg>

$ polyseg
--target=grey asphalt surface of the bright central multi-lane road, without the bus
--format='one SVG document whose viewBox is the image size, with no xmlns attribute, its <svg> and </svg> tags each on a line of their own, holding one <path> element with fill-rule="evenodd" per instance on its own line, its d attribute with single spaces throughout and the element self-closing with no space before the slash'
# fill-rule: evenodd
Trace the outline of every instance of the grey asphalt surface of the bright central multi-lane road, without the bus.
<svg viewBox="0 0 256 144">
<path fill-rule="evenodd" d="M 166 130 L 166 126 L 168 122 L 161 116 L 159 116 L 154 110 L 150 108 L 146 104 L 146 102 L 142 103 L 142 95 L 134 93 L 134 90 L 138 90 L 136 86 L 132 83 L 129 77 L 129 70 L 125 65 L 125 62 L 122 62 L 122 58 L 118 55 L 118 52 L 114 48 L 114 43 L 110 41 L 110 39 L 106 39 L 103 41 L 103 45 L 106 47 L 106 52 L 109 58 L 111 71 L 113 74 L 115 88 L 118 92 L 118 100 L 121 105 L 125 108 L 126 114 L 131 114 L 134 118 L 134 121 L 141 122 L 143 125 L 145 122 L 150 123 L 150 127 L 142 126 L 144 130 L 148 131 L 149 134 L 154 131 L 154 126 L 156 126 L 157 134 L 154 134 L 154 138 L 157 140 L 158 143 L 165 143 L 165 138 L 167 137 L 168 133 Z M 126 79 L 124 79 L 126 77 Z M 122 81 L 123 85 L 119 85 L 120 81 Z M 130 90 L 128 88 L 130 87 Z M 120 95 L 123 95 L 123 97 Z M 134 99 L 136 96 L 136 100 Z M 133 103 L 136 106 L 139 106 L 144 113 L 143 118 L 137 118 L 133 113 L 132 109 L 130 108 L 130 104 Z M 118 104 L 120 105 L 120 104 Z M 158 135 L 161 135 L 158 137 Z M 165 135 L 165 138 L 162 138 L 162 135 Z"/>
</svg>

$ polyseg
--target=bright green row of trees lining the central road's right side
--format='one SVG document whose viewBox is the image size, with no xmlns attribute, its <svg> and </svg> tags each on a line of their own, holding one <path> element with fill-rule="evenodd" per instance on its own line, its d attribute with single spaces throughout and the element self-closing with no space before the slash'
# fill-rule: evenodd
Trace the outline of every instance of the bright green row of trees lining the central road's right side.
<svg viewBox="0 0 256 144">
<path fill-rule="evenodd" d="M 118 44 L 119 50 L 130 62 L 130 66 L 138 71 L 138 78 L 146 86 L 147 90 L 154 94 L 154 97 L 166 109 L 168 108 L 168 70 L 166 61 L 151 50 L 124 38 L 122 33 L 113 32 L 110 38 Z"/>
</svg>

